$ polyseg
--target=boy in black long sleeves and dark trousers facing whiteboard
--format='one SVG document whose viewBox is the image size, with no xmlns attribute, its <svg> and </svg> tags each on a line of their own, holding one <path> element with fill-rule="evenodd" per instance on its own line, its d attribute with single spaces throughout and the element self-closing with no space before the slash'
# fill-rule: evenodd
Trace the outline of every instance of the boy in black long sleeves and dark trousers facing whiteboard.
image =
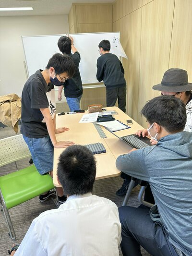
<svg viewBox="0 0 192 256">
<path fill-rule="evenodd" d="M 96 79 L 103 80 L 106 86 L 107 107 L 115 106 L 118 99 L 118 107 L 125 112 L 126 107 L 126 81 L 124 78 L 123 66 L 115 54 L 110 53 L 110 42 L 102 40 L 99 45 L 99 54 L 97 59 Z"/>
</svg>

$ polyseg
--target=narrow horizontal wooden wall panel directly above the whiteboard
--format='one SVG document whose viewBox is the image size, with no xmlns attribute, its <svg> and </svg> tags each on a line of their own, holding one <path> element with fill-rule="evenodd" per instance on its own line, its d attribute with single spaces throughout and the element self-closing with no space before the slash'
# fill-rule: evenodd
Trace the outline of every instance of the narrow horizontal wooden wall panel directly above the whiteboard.
<svg viewBox="0 0 192 256">
<path fill-rule="evenodd" d="M 78 24 L 78 33 L 90 33 L 90 32 L 111 32 L 113 31 L 112 23 L 90 23 L 90 24 Z"/>
</svg>

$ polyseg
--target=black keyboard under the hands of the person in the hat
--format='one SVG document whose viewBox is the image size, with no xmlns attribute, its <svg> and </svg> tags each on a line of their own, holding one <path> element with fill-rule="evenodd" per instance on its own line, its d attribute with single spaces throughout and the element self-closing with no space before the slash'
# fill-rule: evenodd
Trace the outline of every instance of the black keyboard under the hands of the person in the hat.
<svg viewBox="0 0 192 256">
<path fill-rule="evenodd" d="M 143 138 L 142 136 L 139 137 L 134 134 L 120 137 L 120 139 L 128 143 L 130 146 L 135 147 L 137 149 L 151 146 L 149 138 L 147 137 Z"/>
</svg>

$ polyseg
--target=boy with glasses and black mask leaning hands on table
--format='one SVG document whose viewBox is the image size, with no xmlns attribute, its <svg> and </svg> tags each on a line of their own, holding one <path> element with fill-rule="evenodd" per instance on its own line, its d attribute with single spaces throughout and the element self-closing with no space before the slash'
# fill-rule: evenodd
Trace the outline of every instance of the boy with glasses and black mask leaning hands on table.
<svg viewBox="0 0 192 256">
<path fill-rule="evenodd" d="M 31 152 L 37 171 L 53 176 L 53 148 L 71 146 L 70 141 L 57 141 L 55 134 L 68 131 L 68 128 L 56 128 L 54 85 L 63 85 L 73 76 L 75 66 L 72 59 L 56 53 L 48 61 L 46 69 L 37 70 L 24 85 L 22 92 L 21 133 Z M 59 203 L 66 201 L 62 188 L 57 189 Z M 40 195 L 44 202 L 55 191 Z"/>
</svg>

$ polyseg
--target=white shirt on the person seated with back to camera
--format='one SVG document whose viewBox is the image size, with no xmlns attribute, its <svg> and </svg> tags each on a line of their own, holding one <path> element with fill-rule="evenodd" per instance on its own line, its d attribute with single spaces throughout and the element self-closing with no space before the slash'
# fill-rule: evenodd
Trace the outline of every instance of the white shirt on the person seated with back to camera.
<svg viewBox="0 0 192 256">
<path fill-rule="evenodd" d="M 33 220 L 15 256 L 118 256 L 118 207 L 107 198 L 69 196 Z"/>
</svg>

